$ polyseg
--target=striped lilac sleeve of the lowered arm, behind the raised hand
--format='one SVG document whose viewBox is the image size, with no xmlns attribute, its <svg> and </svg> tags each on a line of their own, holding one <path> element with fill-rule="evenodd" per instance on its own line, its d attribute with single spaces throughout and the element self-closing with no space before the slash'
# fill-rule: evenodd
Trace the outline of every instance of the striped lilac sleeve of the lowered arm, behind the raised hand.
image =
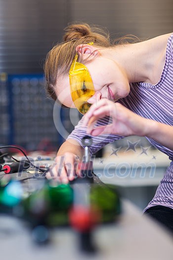
<svg viewBox="0 0 173 260">
<path fill-rule="evenodd" d="M 110 124 L 112 121 L 110 117 L 104 117 L 100 120 L 98 120 L 97 125 L 106 125 Z M 92 138 L 92 145 L 89 147 L 89 152 L 91 155 L 94 155 L 97 151 L 99 151 L 102 147 L 105 145 L 115 142 L 116 140 L 122 139 L 123 136 L 120 135 L 114 135 L 114 134 L 104 134 L 99 136 L 91 136 L 87 134 L 87 127 L 82 126 L 83 118 L 79 121 L 78 125 L 75 126 L 75 129 L 72 131 L 72 133 L 68 136 L 68 139 L 74 139 L 76 140 L 82 147 L 82 138 L 85 136 L 89 136 Z"/>
</svg>

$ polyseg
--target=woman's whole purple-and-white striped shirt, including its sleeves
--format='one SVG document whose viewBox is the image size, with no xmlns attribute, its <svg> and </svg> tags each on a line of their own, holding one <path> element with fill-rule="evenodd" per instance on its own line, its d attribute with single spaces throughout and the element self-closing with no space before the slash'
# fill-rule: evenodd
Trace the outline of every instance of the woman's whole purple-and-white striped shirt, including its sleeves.
<svg viewBox="0 0 173 260">
<path fill-rule="evenodd" d="M 130 84 L 130 94 L 126 98 L 119 100 L 119 102 L 142 117 L 173 125 L 173 34 L 168 40 L 166 62 L 160 81 L 156 85 L 144 82 Z M 83 119 L 68 137 L 68 139 L 77 140 L 80 144 L 81 138 L 86 135 L 86 129 L 81 126 L 82 121 Z M 108 117 L 104 118 L 98 122 L 98 125 L 107 124 L 108 121 Z M 123 137 L 118 135 L 92 137 L 93 144 L 90 147 L 90 153 L 94 154 L 106 144 L 120 138 Z M 154 147 L 168 155 L 172 160 L 153 200 L 147 208 L 158 205 L 173 208 L 173 151 L 151 138 L 147 139 Z"/>
</svg>

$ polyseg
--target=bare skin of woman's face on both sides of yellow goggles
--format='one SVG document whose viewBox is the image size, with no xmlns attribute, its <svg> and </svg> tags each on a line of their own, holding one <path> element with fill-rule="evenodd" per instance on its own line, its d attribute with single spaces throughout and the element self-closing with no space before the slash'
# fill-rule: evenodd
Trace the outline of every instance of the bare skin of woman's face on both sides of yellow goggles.
<svg viewBox="0 0 173 260">
<path fill-rule="evenodd" d="M 123 68 L 113 59 L 97 56 L 86 64 L 91 75 L 95 94 L 88 103 L 93 104 L 99 99 L 107 98 L 116 102 L 128 96 L 130 85 Z M 70 94 L 69 77 L 60 77 L 56 86 L 56 95 L 61 104 L 75 107 Z"/>
</svg>

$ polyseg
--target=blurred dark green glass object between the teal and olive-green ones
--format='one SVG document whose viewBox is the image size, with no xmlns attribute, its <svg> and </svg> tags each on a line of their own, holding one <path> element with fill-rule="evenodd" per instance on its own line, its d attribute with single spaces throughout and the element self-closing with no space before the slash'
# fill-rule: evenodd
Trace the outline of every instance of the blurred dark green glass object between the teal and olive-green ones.
<svg viewBox="0 0 173 260">
<path fill-rule="evenodd" d="M 26 198 L 25 216 L 32 216 L 33 222 L 47 226 L 68 224 L 68 210 L 73 203 L 73 189 L 69 184 L 45 182 L 43 188 Z"/>
</svg>

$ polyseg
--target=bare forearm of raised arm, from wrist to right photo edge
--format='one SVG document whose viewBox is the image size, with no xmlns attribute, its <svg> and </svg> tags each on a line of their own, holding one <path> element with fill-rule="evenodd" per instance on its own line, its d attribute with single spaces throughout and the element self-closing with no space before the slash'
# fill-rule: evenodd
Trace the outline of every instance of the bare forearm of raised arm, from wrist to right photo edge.
<svg viewBox="0 0 173 260">
<path fill-rule="evenodd" d="M 146 119 L 146 136 L 173 150 L 173 126 Z"/>
</svg>

